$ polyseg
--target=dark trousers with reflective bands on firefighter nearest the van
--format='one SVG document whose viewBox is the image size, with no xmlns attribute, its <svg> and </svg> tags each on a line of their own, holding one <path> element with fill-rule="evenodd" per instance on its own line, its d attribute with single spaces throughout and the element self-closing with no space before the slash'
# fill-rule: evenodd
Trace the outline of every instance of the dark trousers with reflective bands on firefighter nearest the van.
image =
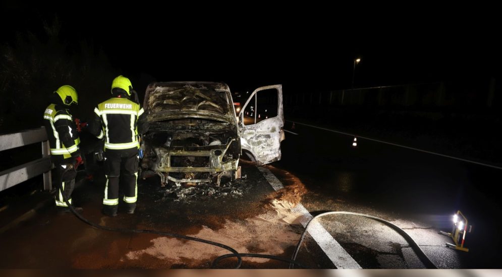
<svg viewBox="0 0 502 277">
<path fill-rule="evenodd" d="M 138 150 L 109 150 L 104 152 L 106 186 L 103 209 L 107 214 L 116 214 L 119 206 L 119 183 L 122 183 L 124 202 L 128 211 L 134 212 L 138 197 Z"/>
</svg>

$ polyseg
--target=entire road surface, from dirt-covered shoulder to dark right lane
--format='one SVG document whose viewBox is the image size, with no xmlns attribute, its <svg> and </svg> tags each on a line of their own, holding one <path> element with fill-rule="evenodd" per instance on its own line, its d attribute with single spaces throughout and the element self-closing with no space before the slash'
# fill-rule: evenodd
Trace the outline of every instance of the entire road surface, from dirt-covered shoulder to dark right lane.
<svg viewBox="0 0 502 277">
<path fill-rule="evenodd" d="M 500 172 L 412 150 L 358 141 L 353 137 L 296 124 L 282 143 L 282 161 L 266 166 L 284 186 L 274 191 L 263 173 L 242 161 L 245 178 L 223 188 L 160 187 L 140 180 L 134 215 L 100 214 L 104 176 L 74 192 L 88 220 L 109 227 L 154 229 L 214 240 L 241 253 L 291 257 L 303 231 L 297 212 L 311 215 L 350 211 L 390 221 L 405 229 L 440 268 L 497 268 L 500 206 L 490 187 Z M 266 174 L 265 174 L 266 175 Z M 181 190 L 183 189 L 183 190 Z M 182 193 L 184 192 L 184 193 Z M 50 198 L 47 192 L 32 201 Z M 461 210 L 473 225 L 469 253 L 452 242 L 452 215 Z M 295 212 L 296 211 L 296 212 Z M 6 215 L 9 209 L 0 212 Z M 381 223 L 355 216 L 319 219 L 362 268 L 424 268 L 409 244 Z M 310 268 L 336 268 L 325 248 L 307 235 L 297 260 Z M 57 215 L 52 205 L 0 236 L 0 268 L 209 268 L 227 250 L 152 234 L 96 230 L 73 215 Z M 231 268 L 235 259 L 219 267 Z M 287 263 L 244 258 L 242 268 L 288 268 Z M 350 267 L 349 267 L 350 268 Z"/>
</svg>

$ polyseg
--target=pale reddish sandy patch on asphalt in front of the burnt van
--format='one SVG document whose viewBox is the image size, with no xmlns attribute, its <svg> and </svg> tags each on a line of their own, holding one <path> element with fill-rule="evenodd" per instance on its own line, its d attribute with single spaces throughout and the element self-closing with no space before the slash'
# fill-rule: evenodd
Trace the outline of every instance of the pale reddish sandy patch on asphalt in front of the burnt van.
<svg viewBox="0 0 502 277">
<path fill-rule="evenodd" d="M 235 248 L 240 253 L 259 253 L 289 257 L 290 248 L 296 245 L 303 228 L 290 225 L 282 219 L 291 215 L 291 203 L 284 200 L 274 201 L 273 209 L 245 220 L 227 219 L 217 230 L 202 226 L 194 237 L 215 241 Z M 134 238 L 133 238 L 134 239 Z M 166 266 L 185 264 L 188 268 L 205 267 L 219 255 L 229 251 L 206 244 L 169 237 L 157 237 L 150 240 L 152 245 L 143 249 L 132 250 L 121 262 L 139 262 L 154 258 Z M 134 242 L 133 242 L 134 243 Z M 268 259 L 246 258 L 246 264 L 264 263 Z M 162 266 L 156 264 L 157 266 Z M 251 266 L 251 265 L 248 265 Z M 259 267 L 258 265 L 254 265 Z M 278 267 L 287 267 L 287 264 Z"/>
</svg>

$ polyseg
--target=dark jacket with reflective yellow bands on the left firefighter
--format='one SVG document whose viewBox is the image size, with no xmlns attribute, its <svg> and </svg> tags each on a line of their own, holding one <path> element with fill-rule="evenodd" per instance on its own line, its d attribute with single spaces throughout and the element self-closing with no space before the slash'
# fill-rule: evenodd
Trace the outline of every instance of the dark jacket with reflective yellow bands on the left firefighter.
<svg viewBox="0 0 502 277">
<path fill-rule="evenodd" d="M 80 155 L 80 138 L 70 112 L 62 105 L 50 104 L 43 114 L 50 154 L 57 160 Z"/>
</svg>

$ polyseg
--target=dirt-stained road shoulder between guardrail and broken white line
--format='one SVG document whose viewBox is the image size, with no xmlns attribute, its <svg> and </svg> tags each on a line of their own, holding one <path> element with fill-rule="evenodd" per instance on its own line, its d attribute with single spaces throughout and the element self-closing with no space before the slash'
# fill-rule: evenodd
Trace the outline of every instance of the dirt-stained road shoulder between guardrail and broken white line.
<svg viewBox="0 0 502 277">
<path fill-rule="evenodd" d="M 244 165 L 243 172 L 246 178 L 220 187 L 161 187 L 154 178 L 142 180 L 134 215 L 125 214 L 121 204 L 115 218 L 100 214 L 104 176 L 79 186 L 74 200 L 84 208 L 85 218 L 103 226 L 177 233 L 223 243 L 241 253 L 291 257 L 303 231 L 300 225 L 290 224 L 295 217 L 291 208 L 305 188 L 294 176 L 284 175 L 285 188 L 276 192 L 256 167 Z M 229 253 L 184 239 L 97 230 L 73 215 L 57 216 L 51 207 L 39 213 L 0 238 L 0 244 L 11 249 L 0 259 L 0 268 L 209 268 L 214 258 Z M 53 234 L 60 234 L 58 243 L 47 239 Z M 219 267 L 234 265 L 231 258 Z M 287 267 L 284 262 L 259 258 L 244 258 L 242 265 Z"/>
</svg>

